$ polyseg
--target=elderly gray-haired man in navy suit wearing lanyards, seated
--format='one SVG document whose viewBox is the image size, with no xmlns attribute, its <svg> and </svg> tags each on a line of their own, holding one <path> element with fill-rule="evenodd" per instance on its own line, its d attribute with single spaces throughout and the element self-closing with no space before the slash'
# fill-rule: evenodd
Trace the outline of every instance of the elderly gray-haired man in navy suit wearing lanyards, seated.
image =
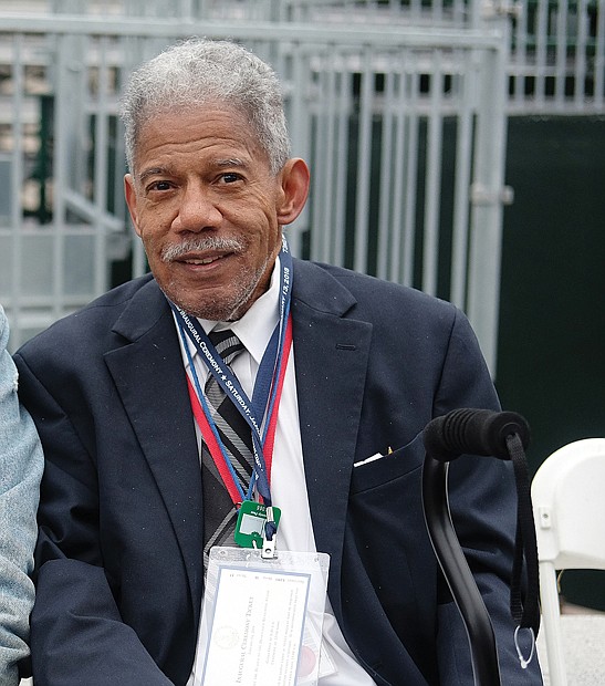
<svg viewBox="0 0 605 686">
<path fill-rule="evenodd" d="M 132 76 L 123 115 L 126 200 L 152 274 L 17 355 L 46 454 L 36 686 L 281 685 L 292 664 L 296 683 L 322 686 L 472 683 L 420 501 L 425 425 L 456 407 L 498 408 L 467 320 L 410 289 L 291 258 L 282 227 L 305 204 L 309 169 L 290 156 L 274 73 L 242 48 L 167 50 Z M 463 457 L 450 493 L 503 683 L 539 684 L 535 663 L 520 668 L 508 609 L 510 470 Z M 267 568 L 270 649 L 261 634 L 273 625 L 254 614 L 258 578 L 270 576 L 257 545 L 293 560 Z M 238 585 L 220 568 L 233 585 L 219 593 L 215 555 L 238 550 L 257 578 L 242 568 Z M 321 659 L 270 602 L 317 553 L 330 558 Z M 233 626 L 218 626 L 225 606 Z M 290 676 L 273 676 L 288 641 Z M 236 666 L 219 655 L 219 676 L 217 645 L 241 653 Z"/>
</svg>

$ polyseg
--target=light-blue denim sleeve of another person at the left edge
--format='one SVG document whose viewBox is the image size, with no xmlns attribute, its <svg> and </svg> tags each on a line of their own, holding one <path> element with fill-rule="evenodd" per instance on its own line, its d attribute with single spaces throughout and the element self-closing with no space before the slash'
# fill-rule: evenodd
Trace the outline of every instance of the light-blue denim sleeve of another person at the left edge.
<svg viewBox="0 0 605 686">
<path fill-rule="evenodd" d="M 0 686 L 19 683 L 19 662 L 29 655 L 30 579 L 43 470 L 33 422 L 19 404 L 17 370 L 7 351 L 9 326 L 0 305 Z"/>
</svg>

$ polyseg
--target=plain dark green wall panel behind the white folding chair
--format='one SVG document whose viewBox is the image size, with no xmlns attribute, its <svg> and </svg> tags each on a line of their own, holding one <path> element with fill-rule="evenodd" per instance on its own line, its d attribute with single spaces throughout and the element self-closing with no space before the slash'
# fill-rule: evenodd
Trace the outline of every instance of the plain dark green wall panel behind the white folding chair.
<svg viewBox="0 0 605 686">
<path fill-rule="evenodd" d="M 497 385 L 532 427 L 533 472 L 605 436 L 605 118 L 511 118 L 507 184 Z M 563 593 L 605 610 L 598 574 L 566 573 Z"/>
</svg>

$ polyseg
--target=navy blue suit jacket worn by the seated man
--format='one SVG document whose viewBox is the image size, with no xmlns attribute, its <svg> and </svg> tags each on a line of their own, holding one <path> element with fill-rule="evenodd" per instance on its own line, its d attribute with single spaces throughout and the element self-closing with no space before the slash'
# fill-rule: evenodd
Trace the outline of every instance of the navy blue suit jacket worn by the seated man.
<svg viewBox="0 0 605 686">
<path fill-rule="evenodd" d="M 425 530 L 420 434 L 455 407 L 498 408 L 474 335 L 448 303 L 301 261 L 292 314 L 306 488 L 341 627 L 379 685 L 472 684 L 465 628 Z M 114 289 L 15 361 L 46 458 L 36 686 L 185 684 L 202 596 L 202 502 L 164 295 L 150 277 Z M 450 481 L 502 683 L 539 684 L 535 665 L 519 666 L 509 612 L 510 466 L 463 457 Z"/>
</svg>

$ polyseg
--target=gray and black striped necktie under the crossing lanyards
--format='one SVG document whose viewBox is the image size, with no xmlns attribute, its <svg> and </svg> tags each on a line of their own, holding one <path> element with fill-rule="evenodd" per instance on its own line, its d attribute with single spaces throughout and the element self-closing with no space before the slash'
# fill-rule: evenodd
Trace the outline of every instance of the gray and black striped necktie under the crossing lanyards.
<svg viewBox="0 0 605 686">
<path fill-rule="evenodd" d="M 227 365 L 230 365 L 243 350 L 242 343 L 230 330 L 213 331 L 208 337 Z M 243 492 L 247 492 L 253 464 L 250 426 L 211 374 L 206 382 L 204 393 L 239 484 Z M 234 545 L 237 510 L 205 443 L 201 446 L 201 486 L 204 567 L 208 569 L 208 555 L 212 545 Z"/>
</svg>

